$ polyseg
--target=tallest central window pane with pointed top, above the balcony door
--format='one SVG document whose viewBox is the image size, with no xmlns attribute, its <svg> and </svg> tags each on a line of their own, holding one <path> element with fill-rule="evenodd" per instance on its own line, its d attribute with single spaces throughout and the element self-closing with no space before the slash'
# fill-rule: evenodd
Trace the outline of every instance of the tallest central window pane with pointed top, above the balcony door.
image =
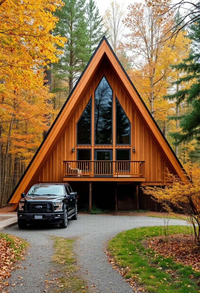
<svg viewBox="0 0 200 293">
<path fill-rule="evenodd" d="M 95 144 L 112 144 L 112 90 L 105 77 L 95 91 Z"/>
</svg>

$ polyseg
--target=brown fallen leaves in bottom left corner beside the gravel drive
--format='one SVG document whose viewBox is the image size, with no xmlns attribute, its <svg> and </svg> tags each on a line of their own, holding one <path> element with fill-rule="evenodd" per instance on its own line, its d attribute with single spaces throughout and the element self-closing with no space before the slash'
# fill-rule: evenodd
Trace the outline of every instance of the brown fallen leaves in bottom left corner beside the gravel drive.
<svg viewBox="0 0 200 293">
<path fill-rule="evenodd" d="M 11 276 L 11 271 L 15 269 L 14 264 L 20 259 L 25 259 L 23 255 L 26 246 L 27 242 L 17 236 L 0 234 L 0 289 L 9 286 L 6 279 Z"/>
</svg>

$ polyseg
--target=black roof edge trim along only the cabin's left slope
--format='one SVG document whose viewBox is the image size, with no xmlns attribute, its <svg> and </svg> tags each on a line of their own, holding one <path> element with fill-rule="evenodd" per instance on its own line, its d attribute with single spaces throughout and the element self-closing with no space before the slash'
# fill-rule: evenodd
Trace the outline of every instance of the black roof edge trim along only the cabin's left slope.
<svg viewBox="0 0 200 293">
<path fill-rule="evenodd" d="M 72 96 L 72 93 L 74 92 L 76 86 L 79 84 L 79 81 L 81 80 L 82 76 L 84 75 L 86 69 L 88 68 L 90 62 L 92 61 L 92 59 L 93 59 L 93 57 L 94 57 L 94 55 L 95 55 L 96 52 L 98 51 L 98 49 L 99 49 L 100 45 L 102 44 L 103 40 L 106 40 L 105 36 L 103 36 L 103 38 L 102 38 L 102 40 L 100 41 L 98 47 L 96 48 L 96 50 L 94 51 L 93 55 L 91 56 L 91 58 L 90 58 L 88 64 L 86 65 L 84 71 L 81 73 L 79 79 L 76 81 L 76 84 L 75 84 L 74 88 L 72 89 L 72 91 L 71 91 L 71 93 L 69 94 L 67 100 L 65 101 L 64 105 L 63 105 L 62 108 L 60 109 L 60 112 L 58 113 L 57 117 L 56 117 L 55 120 L 53 121 L 51 127 L 49 128 L 49 130 L 48 130 L 48 132 L 47 132 L 47 134 L 46 134 L 46 136 L 44 137 L 43 141 L 41 142 L 41 145 L 40 145 L 39 148 L 37 149 L 36 153 L 35 153 L 34 156 L 32 157 L 32 160 L 30 161 L 30 163 L 28 164 L 26 170 L 24 171 L 22 177 L 21 177 L 20 180 L 18 181 L 18 184 L 15 186 L 13 192 L 11 193 L 10 197 L 8 198 L 7 203 L 11 200 L 11 198 L 12 198 L 12 196 L 14 195 L 15 191 L 17 190 L 18 186 L 20 185 L 22 179 L 24 178 L 25 174 L 27 173 L 28 169 L 30 168 L 31 164 L 33 163 L 35 157 L 37 156 L 39 150 L 41 149 L 42 145 L 44 144 L 45 140 L 47 139 L 49 133 L 51 132 L 53 126 L 55 125 L 55 122 L 58 120 L 58 117 L 60 116 L 60 114 L 61 114 L 62 111 L 64 110 L 64 108 L 65 108 L 65 106 L 66 106 L 68 100 L 69 100 L 70 97 Z M 106 42 L 107 42 L 107 40 L 106 40 Z"/>
</svg>

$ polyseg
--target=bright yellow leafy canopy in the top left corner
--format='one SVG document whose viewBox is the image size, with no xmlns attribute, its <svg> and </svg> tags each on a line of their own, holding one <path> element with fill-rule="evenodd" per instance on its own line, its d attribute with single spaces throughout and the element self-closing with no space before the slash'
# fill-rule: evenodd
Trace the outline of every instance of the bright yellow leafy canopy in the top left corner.
<svg viewBox="0 0 200 293">
<path fill-rule="evenodd" d="M 61 0 L 0 0 L 0 79 L 13 90 L 37 88 L 44 67 L 57 62 L 56 45 L 66 41 L 52 31 Z"/>
</svg>

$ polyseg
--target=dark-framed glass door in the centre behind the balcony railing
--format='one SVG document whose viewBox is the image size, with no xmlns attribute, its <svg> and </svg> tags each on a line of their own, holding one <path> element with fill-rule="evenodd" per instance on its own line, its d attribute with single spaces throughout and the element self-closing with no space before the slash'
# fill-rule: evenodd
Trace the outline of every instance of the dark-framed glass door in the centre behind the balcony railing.
<svg viewBox="0 0 200 293">
<path fill-rule="evenodd" d="M 112 149 L 95 149 L 94 175 L 112 176 Z"/>
</svg>

